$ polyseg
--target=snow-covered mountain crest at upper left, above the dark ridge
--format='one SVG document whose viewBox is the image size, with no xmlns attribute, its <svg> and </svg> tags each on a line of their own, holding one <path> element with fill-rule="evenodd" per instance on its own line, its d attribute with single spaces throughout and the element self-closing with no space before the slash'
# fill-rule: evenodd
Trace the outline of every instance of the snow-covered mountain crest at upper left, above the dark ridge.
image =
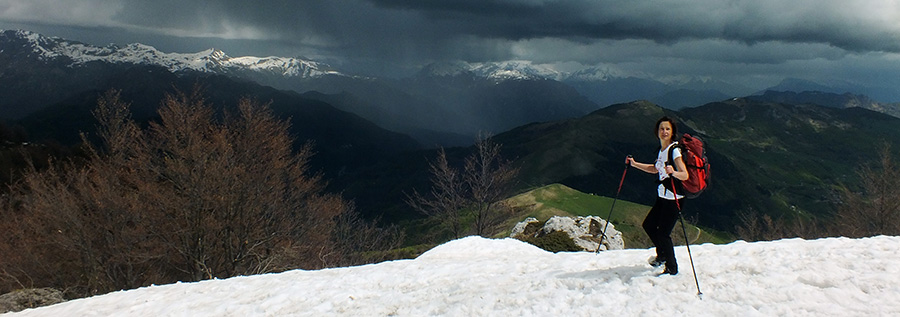
<svg viewBox="0 0 900 317">
<path fill-rule="evenodd" d="M 17 42 L 31 50 L 35 57 L 45 61 L 64 60 L 69 66 L 90 62 L 112 64 L 156 65 L 172 72 L 199 71 L 228 74 L 257 72 L 284 77 L 311 78 L 324 75 L 341 75 L 330 66 L 314 61 L 288 57 L 231 57 L 217 49 L 197 53 L 165 53 L 144 44 L 98 47 L 56 37 L 47 37 L 30 31 L 2 31 L 5 42 Z"/>
</svg>

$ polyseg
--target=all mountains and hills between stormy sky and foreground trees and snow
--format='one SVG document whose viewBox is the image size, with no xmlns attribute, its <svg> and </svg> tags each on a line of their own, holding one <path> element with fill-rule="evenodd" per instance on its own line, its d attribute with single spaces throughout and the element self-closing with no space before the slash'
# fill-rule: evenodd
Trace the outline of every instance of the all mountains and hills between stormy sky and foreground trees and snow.
<svg viewBox="0 0 900 317">
<path fill-rule="evenodd" d="M 468 145 L 477 132 L 497 135 L 505 156 L 523 168 L 523 188 L 563 183 L 611 195 L 622 157 L 646 160 L 654 147 L 648 125 L 675 116 L 709 142 L 714 162 L 712 187 L 690 203 L 690 213 L 726 231 L 748 210 L 827 214 L 835 184 L 856 186 L 854 168 L 872 161 L 881 141 L 900 143 L 900 119 L 866 110 L 898 116 L 900 106 L 854 93 L 738 95 L 746 88 L 714 80 L 666 84 L 605 69 L 560 73 L 529 62 L 440 63 L 410 78 L 385 79 L 299 58 L 162 53 L 140 44 L 94 47 L 0 32 L 0 120 L 34 141 L 72 144 L 78 132 L 90 133 L 90 109 L 107 89 L 122 90 L 135 118 L 147 122 L 166 93 L 197 85 L 220 109 L 241 97 L 271 102 L 292 120 L 299 142 L 315 142 L 314 169 L 361 210 L 387 221 L 411 217 L 404 192 L 427 190 L 430 152 L 421 149 Z M 775 88 L 824 89 L 814 85 L 786 80 Z M 459 159 L 467 151 L 448 154 Z M 622 197 L 646 203 L 652 180 L 639 173 L 626 182 Z"/>
</svg>

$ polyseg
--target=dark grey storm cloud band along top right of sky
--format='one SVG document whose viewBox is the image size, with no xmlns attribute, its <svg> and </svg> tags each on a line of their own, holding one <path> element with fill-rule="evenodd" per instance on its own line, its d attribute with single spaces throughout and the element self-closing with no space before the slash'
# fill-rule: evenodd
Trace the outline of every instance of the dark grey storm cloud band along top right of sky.
<svg viewBox="0 0 900 317">
<path fill-rule="evenodd" d="M 827 43 L 850 51 L 900 51 L 893 1 L 409 1 L 380 7 L 453 20 L 457 31 L 511 40 L 724 39 Z"/>
</svg>

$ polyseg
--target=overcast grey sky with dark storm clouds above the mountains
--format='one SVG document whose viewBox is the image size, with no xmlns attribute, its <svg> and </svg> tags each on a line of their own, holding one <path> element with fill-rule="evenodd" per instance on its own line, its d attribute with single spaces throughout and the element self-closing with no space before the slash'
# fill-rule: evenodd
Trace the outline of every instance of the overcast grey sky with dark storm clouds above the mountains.
<svg viewBox="0 0 900 317">
<path fill-rule="evenodd" d="M 18 28 L 393 77 L 435 61 L 527 60 L 752 88 L 786 77 L 900 87 L 894 0 L 0 0 L 0 29 Z"/>
</svg>

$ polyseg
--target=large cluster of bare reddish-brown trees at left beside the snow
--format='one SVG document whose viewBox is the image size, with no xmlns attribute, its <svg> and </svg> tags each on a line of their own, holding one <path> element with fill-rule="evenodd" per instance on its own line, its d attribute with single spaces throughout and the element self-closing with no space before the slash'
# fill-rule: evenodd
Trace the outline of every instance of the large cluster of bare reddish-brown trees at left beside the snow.
<svg viewBox="0 0 900 317">
<path fill-rule="evenodd" d="M 265 105 L 244 99 L 218 116 L 199 90 L 178 92 L 146 130 L 128 108 L 117 92 L 103 95 L 94 110 L 102 146 L 88 146 L 86 162 L 33 168 L 0 199 L 0 229 L 10 229 L 0 233 L 4 285 L 83 296 L 314 269 L 362 252 L 346 247 L 340 228 L 391 239 L 325 193 L 309 171 L 312 146 L 295 152 L 288 122 Z"/>
</svg>

